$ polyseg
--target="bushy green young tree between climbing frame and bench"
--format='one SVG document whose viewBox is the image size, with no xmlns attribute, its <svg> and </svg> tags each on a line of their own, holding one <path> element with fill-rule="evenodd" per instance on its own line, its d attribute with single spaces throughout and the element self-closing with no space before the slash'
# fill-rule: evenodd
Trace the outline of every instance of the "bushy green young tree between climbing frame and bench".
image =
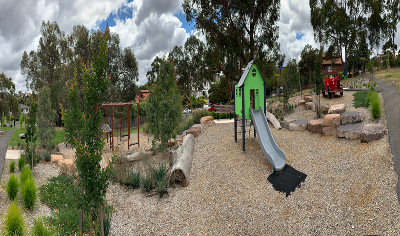
<svg viewBox="0 0 400 236">
<path fill-rule="evenodd" d="M 176 85 L 173 64 L 163 58 L 155 84 L 150 89 L 147 107 L 147 125 L 154 134 L 153 148 L 160 142 L 166 150 L 168 140 L 176 139 L 175 128 L 181 119 L 182 96 Z"/>
</svg>

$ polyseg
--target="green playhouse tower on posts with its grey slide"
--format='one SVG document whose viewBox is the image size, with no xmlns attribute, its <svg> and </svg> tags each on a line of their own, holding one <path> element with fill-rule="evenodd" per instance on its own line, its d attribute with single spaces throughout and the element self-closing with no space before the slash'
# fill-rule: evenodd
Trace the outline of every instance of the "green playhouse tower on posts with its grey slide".
<svg viewBox="0 0 400 236">
<path fill-rule="evenodd" d="M 243 153 L 246 153 L 245 134 L 247 123 L 245 120 L 253 121 L 254 137 L 258 134 L 258 142 L 263 150 L 264 156 L 272 166 L 272 171 L 282 170 L 286 165 L 285 152 L 277 146 L 272 137 L 265 116 L 266 88 L 262 74 L 259 71 L 255 60 L 247 64 L 241 80 L 235 84 L 235 103 L 234 103 L 234 124 L 235 124 L 235 143 L 237 142 L 237 117 L 242 118 L 242 147 Z M 262 105 L 263 107 L 261 107 Z M 257 108 L 257 109 L 256 109 Z M 248 112 L 247 112 L 248 111 Z M 251 126 L 250 126 L 251 129 Z"/>
</svg>

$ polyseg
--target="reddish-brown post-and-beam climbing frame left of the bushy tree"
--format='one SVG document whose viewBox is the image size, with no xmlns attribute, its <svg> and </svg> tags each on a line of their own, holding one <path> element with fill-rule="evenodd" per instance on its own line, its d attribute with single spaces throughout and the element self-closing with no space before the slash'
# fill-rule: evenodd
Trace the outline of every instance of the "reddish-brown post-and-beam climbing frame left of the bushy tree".
<svg viewBox="0 0 400 236">
<path fill-rule="evenodd" d="M 130 124 L 130 114 L 129 114 L 129 106 L 130 105 L 137 105 L 137 142 L 136 143 L 132 143 L 130 142 L 131 139 L 131 124 Z M 108 127 L 108 129 L 110 130 L 106 130 L 103 125 L 102 125 L 102 129 L 106 131 L 107 133 L 107 143 L 108 143 L 108 134 L 111 134 L 110 137 L 110 148 L 112 148 L 112 150 L 114 151 L 114 122 L 113 122 L 113 118 L 114 118 L 114 107 L 119 107 L 119 112 L 118 113 L 122 113 L 121 112 L 121 107 L 127 107 L 127 114 L 128 114 L 128 150 L 129 147 L 131 145 L 135 145 L 137 144 L 137 147 L 139 147 L 139 103 L 132 103 L 132 102 L 128 102 L 128 103 L 102 103 L 102 107 L 101 108 L 106 108 L 106 125 L 108 127 L 108 107 L 111 107 L 111 129 L 110 127 Z M 120 119 L 122 120 L 122 119 Z M 120 122 L 121 123 L 121 122 Z M 123 135 L 121 133 L 121 137 L 119 137 L 120 139 L 122 139 Z M 118 139 L 118 138 L 117 138 Z M 111 144 L 112 142 L 112 144 Z M 118 144 L 118 142 L 117 142 Z"/>
</svg>

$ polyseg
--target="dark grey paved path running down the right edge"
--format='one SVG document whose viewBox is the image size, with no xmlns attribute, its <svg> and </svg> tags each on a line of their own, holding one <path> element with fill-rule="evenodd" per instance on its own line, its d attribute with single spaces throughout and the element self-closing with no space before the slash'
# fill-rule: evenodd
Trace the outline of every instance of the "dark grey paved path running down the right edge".
<svg viewBox="0 0 400 236">
<path fill-rule="evenodd" d="M 389 143 L 392 149 L 394 169 L 398 175 L 397 200 L 400 203 L 400 93 L 392 83 L 373 78 L 383 89 Z"/>
</svg>

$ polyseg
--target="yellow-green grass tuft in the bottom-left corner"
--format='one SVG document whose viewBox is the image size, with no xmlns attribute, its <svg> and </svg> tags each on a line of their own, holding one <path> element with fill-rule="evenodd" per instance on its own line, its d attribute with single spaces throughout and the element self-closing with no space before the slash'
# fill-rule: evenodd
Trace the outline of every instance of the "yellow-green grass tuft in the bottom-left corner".
<svg viewBox="0 0 400 236">
<path fill-rule="evenodd" d="M 26 224 L 21 208 L 16 201 L 12 201 L 7 208 L 7 214 L 3 218 L 2 235 L 23 236 L 26 235 Z"/>
</svg>

